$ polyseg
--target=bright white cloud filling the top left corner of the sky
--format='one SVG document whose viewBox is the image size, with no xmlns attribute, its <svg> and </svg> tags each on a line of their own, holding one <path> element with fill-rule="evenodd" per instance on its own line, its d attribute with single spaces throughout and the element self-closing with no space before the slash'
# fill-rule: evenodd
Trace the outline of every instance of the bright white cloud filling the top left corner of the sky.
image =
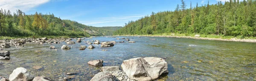
<svg viewBox="0 0 256 81">
<path fill-rule="evenodd" d="M 0 8 L 16 12 L 20 9 L 22 12 L 29 11 L 50 0 L 0 0 Z"/>
</svg>

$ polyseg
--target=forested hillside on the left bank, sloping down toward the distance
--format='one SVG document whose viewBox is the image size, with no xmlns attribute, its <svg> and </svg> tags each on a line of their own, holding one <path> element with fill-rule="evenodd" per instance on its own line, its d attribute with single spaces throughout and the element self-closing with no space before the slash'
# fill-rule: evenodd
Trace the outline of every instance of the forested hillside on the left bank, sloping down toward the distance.
<svg viewBox="0 0 256 81">
<path fill-rule="evenodd" d="M 0 36 L 95 36 L 113 35 L 121 27 L 93 27 L 76 21 L 61 20 L 54 14 L 25 14 L 0 10 Z M 111 30 L 112 29 L 112 30 Z"/>
</svg>

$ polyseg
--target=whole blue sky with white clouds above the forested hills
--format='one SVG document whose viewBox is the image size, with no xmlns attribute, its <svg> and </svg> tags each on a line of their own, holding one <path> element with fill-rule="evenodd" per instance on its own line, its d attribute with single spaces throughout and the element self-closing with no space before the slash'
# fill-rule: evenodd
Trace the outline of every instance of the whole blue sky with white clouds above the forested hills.
<svg viewBox="0 0 256 81">
<path fill-rule="evenodd" d="M 204 5 L 208 0 L 184 0 L 187 8 Z M 210 4 L 225 0 L 209 0 Z M 53 13 L 61 19 L 75 20 L 89 26 L 123 26 L 151 12 L 173 11 L 180 0 L 0 0 L 0 8 L 26 14 Z"/>
</svg>

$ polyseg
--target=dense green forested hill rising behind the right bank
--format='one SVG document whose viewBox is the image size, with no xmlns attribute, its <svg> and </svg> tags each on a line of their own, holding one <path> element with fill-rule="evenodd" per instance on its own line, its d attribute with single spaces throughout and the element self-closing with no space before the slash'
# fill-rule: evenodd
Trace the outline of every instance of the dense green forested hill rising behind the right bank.
<svg viewBox="0 0 256 81">
<path fill-rule="evenodd" d="M 164 11 L 125 23 L 115 35 L 185 33 L 224 36 L 256 36 L 256 1 L 230 0 L 186 8 L 181 0 L 175 11 Z"/>
</svg>

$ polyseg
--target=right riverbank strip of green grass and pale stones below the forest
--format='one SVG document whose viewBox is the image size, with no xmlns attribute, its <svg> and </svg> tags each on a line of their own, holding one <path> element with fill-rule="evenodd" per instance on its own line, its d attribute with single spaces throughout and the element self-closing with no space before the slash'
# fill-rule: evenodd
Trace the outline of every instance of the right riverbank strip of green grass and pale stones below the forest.
<svg viewBox="0 0 256 81">
<path fill-rule="evenodd" d="M 231 37 L 231 36 L 221 36 L 221 35 L 200 35 L 200 37 L 195 37 L 195 35 L 186 35 L 186 34 L 158 34 L 158 35 L 116 35 L 116 36 L 138 36 L 138 37 L 165 37 L 165 38 L 192 38 L 192 39 L 199 39 L 199 40 L 220 40 L 220 41 L 236 41 L 236 42 L 250 42 L 256 43 L 256 39 L 254 38 L 247 38 L 241 39 L 238 37 Z"/>
</svg>

